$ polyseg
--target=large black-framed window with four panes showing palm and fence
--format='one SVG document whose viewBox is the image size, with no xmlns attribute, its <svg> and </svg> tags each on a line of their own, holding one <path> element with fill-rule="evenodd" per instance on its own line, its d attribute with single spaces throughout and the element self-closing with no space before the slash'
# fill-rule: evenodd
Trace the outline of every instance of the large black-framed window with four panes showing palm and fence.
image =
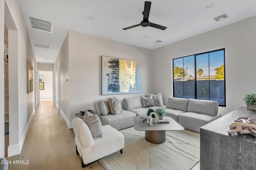
<svg viewBox="0 0 256 170">
<path fill-rule="evenodd" d="M 226 106 L 225 49 L 172 60 L 176 98 L 214 100 Z"/>
</svg>

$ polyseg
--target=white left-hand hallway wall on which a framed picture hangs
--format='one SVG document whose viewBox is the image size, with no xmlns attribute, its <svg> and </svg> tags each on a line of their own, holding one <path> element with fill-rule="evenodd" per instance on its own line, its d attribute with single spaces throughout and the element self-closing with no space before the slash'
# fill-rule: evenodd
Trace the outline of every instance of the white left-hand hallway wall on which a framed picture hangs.
<svg viewBox="0 0 256 170">
<path fill-rule="evenodd" d="M 27 60 L 29 59 L 35 68 L 36 59 L 18 1 L 6 0 L 4 17 L 10 39 L 8 156 L 12 156 L 20 153 L 35 111 L 34 92 L 28 94 L 27 90 Z M 1 27 L 1 33 L 3 29 L 4 27 Z M 0 37 L 0 41 L 3 42 L 4 39 Z"/>
</svg>

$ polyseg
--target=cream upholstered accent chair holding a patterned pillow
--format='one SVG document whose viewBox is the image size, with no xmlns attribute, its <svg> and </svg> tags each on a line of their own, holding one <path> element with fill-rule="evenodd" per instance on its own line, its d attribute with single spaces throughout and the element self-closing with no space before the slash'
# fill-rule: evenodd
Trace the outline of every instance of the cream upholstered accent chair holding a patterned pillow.
<svg viewBox="0 0 256 170">
<path fill-rule="evenodd" d="M 82 119 L 76 117 L 72 123 L 76 136 L 76 154 L 81 156 L 83 168 L 118 150 L 122 154 L 124 135 L 110 125 L 102 126 L 102 138 L 94 138 Z"/>
</svg>

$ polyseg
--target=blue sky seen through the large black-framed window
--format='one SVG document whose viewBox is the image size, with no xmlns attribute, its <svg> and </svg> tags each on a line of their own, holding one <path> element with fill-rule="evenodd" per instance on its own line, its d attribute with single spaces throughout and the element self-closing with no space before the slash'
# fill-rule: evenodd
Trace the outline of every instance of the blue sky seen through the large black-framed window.
<svg viewBox="0 0 256 170">
<path fill-rule="evenodd" d="M 209 56 L 208 56 L 209 55 Z M 184 65 L 183 65 L 184 59 Z M 210 60 L 210 66 L 209 61 Z M 194 69 L 194 55 L 174 59 L 174 63 L 176 66 L 183 67 L 186 70 L 188 68 L 188 75 L 195 76 L 195 69 Z M 198 68 L 202 68 L 204 71 L 204 75 L 215 75 L 215 68 L 224 64 L 224 50 L 223 51 L 216 51 L 212 53 L 206 53 L 202 55 L 196 55 L 196 70 Z"/>
</svg>

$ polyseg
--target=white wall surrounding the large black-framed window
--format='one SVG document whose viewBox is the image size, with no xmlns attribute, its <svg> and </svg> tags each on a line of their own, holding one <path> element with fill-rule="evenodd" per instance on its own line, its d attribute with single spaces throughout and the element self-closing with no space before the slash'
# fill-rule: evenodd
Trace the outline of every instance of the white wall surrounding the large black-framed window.
<svg viewBox="0 0 256 170">
<path fill-rule="evenodd" d="M 154 92 L 161 92 L 164 102 L 172 96 L 172 59 L 222 48 L 226 107 L 219 107 L 219 113 L 245 106 L 244 94 L 256 91 L 256 16 L 153 50 Z M 162 80 L 165 83 L 159 83 Z"/>
</svg>

